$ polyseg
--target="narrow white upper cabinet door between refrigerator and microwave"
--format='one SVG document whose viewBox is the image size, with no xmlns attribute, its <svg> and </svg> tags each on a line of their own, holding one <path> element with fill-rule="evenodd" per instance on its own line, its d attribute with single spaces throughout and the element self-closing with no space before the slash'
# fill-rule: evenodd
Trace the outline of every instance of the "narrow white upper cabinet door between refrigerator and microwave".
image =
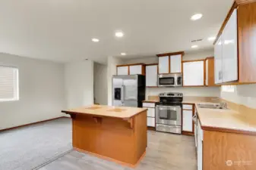
<svg viewBox="0 0 256 170">
<path fill-rule="evenodd" d="M 146 66 L 146 86 L 157 86 L 157 65 Z"/>
</svg>

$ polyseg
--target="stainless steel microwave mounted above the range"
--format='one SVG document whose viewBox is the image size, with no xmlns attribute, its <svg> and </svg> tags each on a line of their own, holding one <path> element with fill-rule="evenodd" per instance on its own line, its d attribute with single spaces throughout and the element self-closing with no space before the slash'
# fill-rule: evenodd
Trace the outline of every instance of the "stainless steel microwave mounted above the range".
<svg viewBox="0 0 256 170">
<path fill-rule="evenodd" d="M 182 86 L 182 73 L 158 75 L 159 87 L 180 87 Z"/>
</svg>

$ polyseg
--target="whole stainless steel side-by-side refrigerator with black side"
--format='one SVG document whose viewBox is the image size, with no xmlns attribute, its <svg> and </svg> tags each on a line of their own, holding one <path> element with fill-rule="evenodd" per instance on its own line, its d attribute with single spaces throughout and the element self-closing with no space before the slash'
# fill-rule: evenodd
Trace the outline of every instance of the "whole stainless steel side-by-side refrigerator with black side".
<svg viewBox="0 0 256 170">
<path fill-rule="evenodd" d="M 145 100 L 146 79 L 143 75 L 113 76 L 112 105 L 116 107 L 142 107 Z"/>
</svg>

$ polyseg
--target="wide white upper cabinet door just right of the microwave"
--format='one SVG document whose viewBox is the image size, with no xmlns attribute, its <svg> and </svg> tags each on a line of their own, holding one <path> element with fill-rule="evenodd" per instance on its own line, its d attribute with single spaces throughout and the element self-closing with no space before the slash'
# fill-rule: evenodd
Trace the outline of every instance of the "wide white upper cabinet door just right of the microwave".
<svg viewBox="0 0 256 170">
<path fill-rule="evenodd" d="M 183 86 L 204 85 L 204 60 L 183 63 Z"/>
</svg>

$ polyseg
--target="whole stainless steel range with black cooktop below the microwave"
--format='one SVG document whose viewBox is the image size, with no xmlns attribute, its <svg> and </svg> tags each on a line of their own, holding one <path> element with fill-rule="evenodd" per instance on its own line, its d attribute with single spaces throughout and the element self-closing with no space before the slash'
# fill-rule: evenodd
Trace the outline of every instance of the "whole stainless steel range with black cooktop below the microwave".
<svg viewBox="0 0 256 170">
<path fill-rule="evenodd" d="M 182 93 L 161 93 L 156 103 L 156 131 L 182 134 Z"/>
</svg>

